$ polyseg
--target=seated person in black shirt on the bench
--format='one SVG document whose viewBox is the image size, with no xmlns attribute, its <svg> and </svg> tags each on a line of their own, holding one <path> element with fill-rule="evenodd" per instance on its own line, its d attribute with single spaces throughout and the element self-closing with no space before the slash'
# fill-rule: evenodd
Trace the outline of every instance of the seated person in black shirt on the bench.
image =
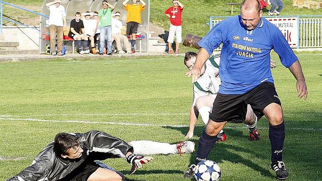
<svg viewBox="0 0 322 181">
<path fill-rule="evenodd" d="M 87 51 L 88 38 L 84 34 L 84 24 L 80 18 L 81 14 L 80 12 L 77 12 L 75 14 L 75 19 L 71 20 L 71 30 L 70 33 L 68 33 L 68 36 L 76 41 L 78 52 L 83 55 L 85 53 L 89 53 L 89 51 Z M 83 48 L 81 46 L 81 40 L 83 40 Z"/>
</svg>

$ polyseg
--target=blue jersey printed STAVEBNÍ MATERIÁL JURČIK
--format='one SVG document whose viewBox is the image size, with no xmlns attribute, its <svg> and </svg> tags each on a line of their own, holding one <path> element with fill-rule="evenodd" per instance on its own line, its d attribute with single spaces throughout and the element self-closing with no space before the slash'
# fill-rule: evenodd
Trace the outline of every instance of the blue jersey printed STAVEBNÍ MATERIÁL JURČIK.
<svg viewBox="0 0 322 181">
<path fill-rule="evenodd" d="M 273 82 L 270 71 L 272 49 L 286 67 L 297 60 L 282 32 L 265 18 L 261 18 L 251 31 L 244 27 L 240 15 L 224 19 L 198 45 L 211 55 L 221 43 L 221 94 L 244 94 L 262 82 Z"/>
</svg>

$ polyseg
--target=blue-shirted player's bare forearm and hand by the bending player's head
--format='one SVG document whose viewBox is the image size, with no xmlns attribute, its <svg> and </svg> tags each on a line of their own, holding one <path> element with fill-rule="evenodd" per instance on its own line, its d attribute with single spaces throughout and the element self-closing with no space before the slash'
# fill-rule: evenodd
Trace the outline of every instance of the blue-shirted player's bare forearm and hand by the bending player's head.
<svg viewBox="0 0 322 181">
<path fill-rule="evenodd" d="M 200 77 L 201 67 L 203 66 L 204 62 L 208 60 L 208 58 L 208 52 L 204 48 L 201 48 L 198 52 L 197 60 L 195 65 L 193 66 L 193 69 L 186 73 L 186 76 L 192 76 L 192 82 L 196 82 L 197 79 Z"/>
</svg>

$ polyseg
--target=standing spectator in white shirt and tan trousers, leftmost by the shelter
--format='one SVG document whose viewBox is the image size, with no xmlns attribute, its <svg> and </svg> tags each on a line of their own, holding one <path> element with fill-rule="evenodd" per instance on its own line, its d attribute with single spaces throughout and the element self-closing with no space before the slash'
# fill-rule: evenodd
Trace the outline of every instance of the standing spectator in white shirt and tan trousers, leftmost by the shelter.
<svg viewBox="0 0 322 181">
<path fill-rule="evenodd" d="M 47 3 L 46 7 L 49 8 L 49 33 L 50 33 L 50 49 L 52 55 L 56 55 L 55 44 L 57 34 L 57 55 L 62 55 L 61 50 L 63 46 L 63 27 L 66 25 L 65 8 L 60 5 L 60 0 Z"/>
</svg>

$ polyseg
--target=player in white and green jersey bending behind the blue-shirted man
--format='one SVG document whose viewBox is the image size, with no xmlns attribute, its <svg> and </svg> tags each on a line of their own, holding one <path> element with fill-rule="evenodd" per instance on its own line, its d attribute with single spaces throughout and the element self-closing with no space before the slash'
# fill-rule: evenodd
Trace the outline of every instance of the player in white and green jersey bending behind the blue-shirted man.
<svg viewBox="0 0 322 181">
<path fill-rule="evenodd" d="M 192 69 L 197 54 L 194 52 L 187 52 L 185 56 L 185 65 L 189 70 Z M 219 63 L 220 54 L 213 54 L 208 60 L 206 60 L 204 66 L 201 69 L 201 76 L 193 83 L 193 103 L 190 108 L 190 123 L 189 131 L 186 135 L 186 139 L 193 137 L 193 131 L 200 114 L 204 124 L 209 121 L 209 112 L 213 106 L 214 100 L 219 90 L 220 78 L 219 78 Z M 260 139 L 260 135 L 257 130 L 257 115 L 254 114 L 251 107 L 247 107 L 247 115 L 245 121 L 236 120 L 235 123 L 244 122 L 249 131 L 251 141 L 257 141 Z M 218 134 L 219 141 L 225 141 L 226 135 L 221 130 Z"/>
</svg>

